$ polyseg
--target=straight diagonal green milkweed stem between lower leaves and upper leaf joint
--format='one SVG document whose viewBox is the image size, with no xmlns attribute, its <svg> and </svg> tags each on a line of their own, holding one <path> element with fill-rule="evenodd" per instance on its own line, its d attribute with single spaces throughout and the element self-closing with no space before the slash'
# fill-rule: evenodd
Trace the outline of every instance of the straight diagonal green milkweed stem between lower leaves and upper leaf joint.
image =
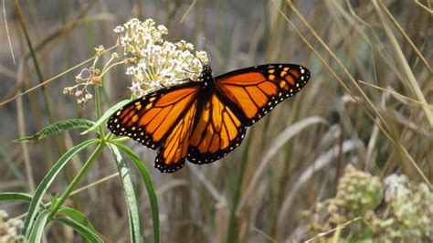
<svg viewBox="0 0 433 243">
<path fill-rule="evenodd" d="M 51 213 L 49 214 L 48 218 L 52 219 L 54 216 L 56 216 L 56 214 L 58 212 L 58 209 L 60 208 L 60 206 L 62 206 L 65 203 L 66 199 L 72 193 L 72 190 L 74 189 L 75 185 L 77 185 L 79 183 L 79 180 L 81 180 L 82 176 L 84 174 L 86 174 L 86 172 L 89 170 L 90 165 L 93 163 L 93 161 L 95 161 L 96 157 L 102 151 L 102 148 L 104 147 L 104 144 L 105 143 L 100 143 L 98 145 L 98 147 L 96 147 L 96 149 L 93 151 L 93 153 L 90 154 L 89 159 L 86 161 L 86 163 L 84 163 L 84 165 L 82 166 L 82 168 L 79 170 L 79 174 L 77 174 L 75 176 L 75 178 L 72 180 L 72 182 L 70 182 L 68 188 L 66 188 L 65 192 L 63 193 L 63 195 L 61 195 L 60 198 L 58 198 L 58 202 L 51 209 Z"/>
</svg>

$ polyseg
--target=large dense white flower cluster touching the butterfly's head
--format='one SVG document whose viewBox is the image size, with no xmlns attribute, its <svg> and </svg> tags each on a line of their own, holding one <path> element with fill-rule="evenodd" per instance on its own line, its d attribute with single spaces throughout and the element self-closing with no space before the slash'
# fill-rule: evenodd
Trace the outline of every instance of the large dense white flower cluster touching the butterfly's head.
<svg viewBox="0 0 433 243">
<path fill-rule="evenodd" d="M 206 52 L 195 51 L 193 44 L 164 40 L 167 28 L 155 26 L 153 19 L 142 22 L 132 18 L 114 32 L 128 59 L 126 74 L 132 77 L 130 90 L 135 97 L 197 79 L 208 62 Z"/>
</svg>

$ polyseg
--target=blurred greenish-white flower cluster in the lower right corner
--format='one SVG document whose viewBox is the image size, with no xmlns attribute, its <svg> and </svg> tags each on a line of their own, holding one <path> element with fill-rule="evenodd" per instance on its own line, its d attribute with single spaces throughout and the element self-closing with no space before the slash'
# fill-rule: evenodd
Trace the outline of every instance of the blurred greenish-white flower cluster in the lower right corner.
<svg viewBox="0 0 433 243">
<path fill-rule="evenodd" d="M 350 232 L 341 233 L 341 238 L 372 242 L 433 241 L 433 192 L 424 183 L 409 181 L 406 175 L 391 174 L 382 182 L 349 164 L 340 178 L 337 195 L 318 203 L 304 215 L 309 218 L 306 227 L 314 235 L 361 217 L 362 220 L 346 227 Z M 332 241 L 333 234 L 320 239 Z"/>
</svg>

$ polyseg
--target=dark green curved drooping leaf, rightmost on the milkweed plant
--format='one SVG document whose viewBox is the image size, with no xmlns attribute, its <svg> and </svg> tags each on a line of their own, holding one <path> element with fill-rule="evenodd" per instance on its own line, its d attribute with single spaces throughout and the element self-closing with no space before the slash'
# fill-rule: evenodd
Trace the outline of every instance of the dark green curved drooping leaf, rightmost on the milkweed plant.
<svg viewBox="0 0 433 243">
<path fill-rule="evenodd" d="M 149 201 L 151 203 L 152 209 L 152 219 L 153 219 L 153 242 L 159 243 L 161 242 L 161 227 L 159 222 L 159 209 L 158 209 L 158 200 L 156 198 L 156 193 L 153 187 L 152 177 L 149 174 L 146 166 L 144 166 L 143 162 L 132 152 L 130 148 L 121 144 L 121 143 L 113 143 L 118 148 L 120 148 L 124 153 L 126 153 L 135 164 L 140 174 L 142 174 L 144 185 L 146 185 L 147 194 L 149 195 Z"/>
</svg>

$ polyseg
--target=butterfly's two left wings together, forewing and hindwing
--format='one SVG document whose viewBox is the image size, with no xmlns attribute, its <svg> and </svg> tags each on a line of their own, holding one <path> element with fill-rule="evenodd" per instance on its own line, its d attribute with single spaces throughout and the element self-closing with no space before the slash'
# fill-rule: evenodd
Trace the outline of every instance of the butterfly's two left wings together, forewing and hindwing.
<svg viewBox="0 0 433 243">
<path fill-rule="evenodd" d="M 198 82 L 155 91 L 114 113 L 109 130 L 158 149 L 155 167 L 174 172 L 185 164 L 197 106 Z"/>
</svg>

